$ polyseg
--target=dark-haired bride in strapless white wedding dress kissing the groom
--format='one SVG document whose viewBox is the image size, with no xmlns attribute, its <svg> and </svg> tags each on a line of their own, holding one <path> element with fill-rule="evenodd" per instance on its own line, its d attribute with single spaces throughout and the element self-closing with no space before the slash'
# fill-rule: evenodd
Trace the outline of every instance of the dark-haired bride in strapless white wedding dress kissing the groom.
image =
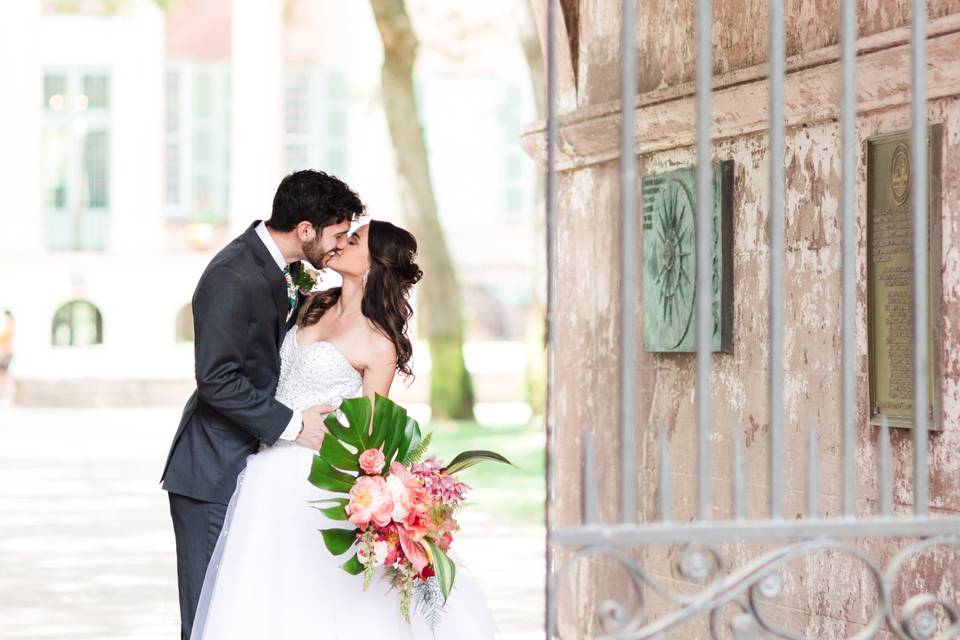
<svg viewBox="0 0 960 640">
<path fill-rule="evenodd" d="M 372 221 L 350 237 L 327 265 L 343 276 L 342 288 L 313 295 L 283 341 L 278 400 L 295 409 L 337 406 L 361 392 L 386 396 L 395 373 L 409 375 L 407 296 L 421 276 L 415 255 L 413 236 L 387 222 Z M 191 637 L 495 637 L 493 617 L 459 564 L 433 628 L 416 611 L 407 623 L 398 594 L 379 575 L 364 591 L 361 576 L 340 568 L 346 556 L 331 555 L 318 530 L 343 523 L 310 504 L 333 495 L 307 481 L 314 453 L 280 440 L 250 456 L 207 569 Z"/>
</svg>

